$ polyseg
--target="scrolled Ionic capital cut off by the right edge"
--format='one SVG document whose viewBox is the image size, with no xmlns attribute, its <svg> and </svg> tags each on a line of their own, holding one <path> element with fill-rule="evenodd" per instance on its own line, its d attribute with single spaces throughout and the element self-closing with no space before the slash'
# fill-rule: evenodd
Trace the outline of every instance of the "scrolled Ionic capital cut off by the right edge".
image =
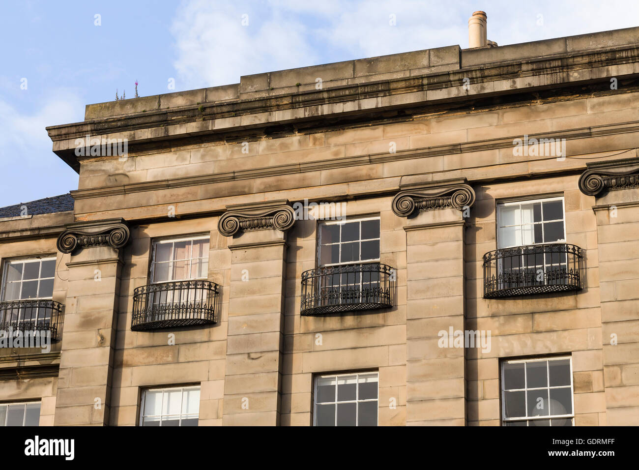
<svg viewBox="0 0 639 470">
<path fill-rule="evenodd" d="M 639 187 L 639 157 L 591 162 L 586 168 L 579 178 L 579 189 L 588 196 Z"/>
</svg>

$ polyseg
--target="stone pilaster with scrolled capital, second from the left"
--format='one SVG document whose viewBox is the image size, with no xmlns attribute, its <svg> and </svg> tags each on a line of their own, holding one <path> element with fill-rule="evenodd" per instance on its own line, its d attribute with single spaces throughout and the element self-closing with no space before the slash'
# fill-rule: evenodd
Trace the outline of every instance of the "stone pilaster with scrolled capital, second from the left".
<svg viewBox="0 0 639 470">
<path fill-rule="evenodd" d="M 219 231 L 232 236 L 224 425 L 277 426 L 281 414 L 287 200 L 227 207 Z"/>
</svg>

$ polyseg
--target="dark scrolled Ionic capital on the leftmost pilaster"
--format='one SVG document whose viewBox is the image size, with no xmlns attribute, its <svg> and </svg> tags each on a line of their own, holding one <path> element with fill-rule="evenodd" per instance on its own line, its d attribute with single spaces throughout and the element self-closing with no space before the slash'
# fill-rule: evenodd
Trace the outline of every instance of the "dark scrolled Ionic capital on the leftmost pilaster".
<svg viewBox="0 0 639 470">
<path fill-rule="evenodd" d="M 75 251 L 95 246 L 121 248 L 128 243 L 130 232 L 124 219 L 107 219 L 98 222 L 79 222 L 69 224 L 58 237 L 58 251 Z"/>
</svg>

